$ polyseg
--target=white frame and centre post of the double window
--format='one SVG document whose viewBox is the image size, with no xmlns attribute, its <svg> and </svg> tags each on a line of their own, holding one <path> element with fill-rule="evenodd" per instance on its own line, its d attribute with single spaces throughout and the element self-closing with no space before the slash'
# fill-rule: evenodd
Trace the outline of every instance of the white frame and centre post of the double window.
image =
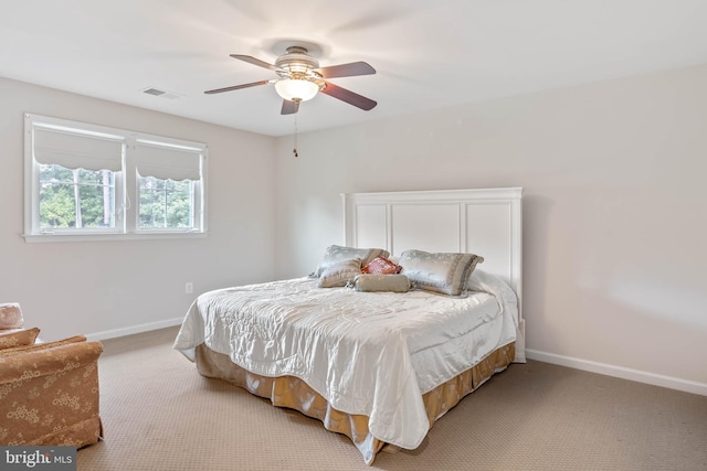
<svg viewBox="0 0 707 471">
<path fill-rule="evenodd" d="M 40 227 L 40 162 L 34 158 L 34 129 L 57 129 L 88 137 L 107 137 L 122 141 L 120 170 L 115 175 L 115 227 L 110 228 L 61 228 L 46 231 Z M 150 142 L 163 147 L 194 153 L 198 160 L 200 180 L 193 182 L 192 210 L 193 227 L 139 227 L 139 173 L 137 170 L 136 146 Z M 118 128 L 92 125 L 41 115 L 24 115 L 24 234 L 28 243 L 34 242 L 78 242 L 78 240 L 126 240 L 155 238 L 194 238 L 207 236 L 207 161 L 209 147 L 205 143 L 129 131 Z M 165 179 L 162 179 L 165 180 Z"/>
</svg>

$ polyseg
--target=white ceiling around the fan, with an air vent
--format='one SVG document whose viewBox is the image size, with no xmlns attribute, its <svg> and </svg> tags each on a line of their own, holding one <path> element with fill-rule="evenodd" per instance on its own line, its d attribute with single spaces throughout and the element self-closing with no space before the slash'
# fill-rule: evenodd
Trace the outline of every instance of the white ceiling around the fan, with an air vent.
<svg viewBox="0 0 707 471">
<path fill-rule="evenodd" d="M 707 63 L 705 0 L 2 3 L 0 76 L 270 136 L 295 126 L 273 85 L 203 94 L 276 77 L 229 54 L 273 63 L 303 41 L 321 66 L 377 69 L 330 79 L 376 108 L 319 94 L 299 107 L 300 132 Z"/>
</svg>

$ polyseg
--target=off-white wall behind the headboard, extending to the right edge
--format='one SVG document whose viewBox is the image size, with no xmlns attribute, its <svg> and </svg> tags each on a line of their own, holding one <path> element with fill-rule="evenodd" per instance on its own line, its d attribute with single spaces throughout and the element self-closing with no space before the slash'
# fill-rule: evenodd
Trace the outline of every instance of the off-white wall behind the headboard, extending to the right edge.
<svg viewBox="0 0 707 471">
<path fill-rule="evenodd" d="M 698 66 L 304 133 L 299 158 L 282 137 L 277 276 L 342 243 L 340 193 L 523 186 L 534 355 L 707 394 L 706 83 Z"/>
</svg>

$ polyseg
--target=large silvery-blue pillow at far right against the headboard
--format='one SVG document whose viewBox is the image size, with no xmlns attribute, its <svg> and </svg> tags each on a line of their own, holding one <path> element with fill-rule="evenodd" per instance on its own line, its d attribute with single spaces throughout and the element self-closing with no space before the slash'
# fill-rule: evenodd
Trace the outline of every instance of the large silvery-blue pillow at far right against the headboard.
<svg viewBox="0 0 707 471">
<path fill-rule="evenodd" d="M 468 277 L 484 257 L 474 254 L 431 254 L 405 250 L 400 256 L 402 274 L 418 288 L 449 296 L 466 292 Z"/>
</svg>

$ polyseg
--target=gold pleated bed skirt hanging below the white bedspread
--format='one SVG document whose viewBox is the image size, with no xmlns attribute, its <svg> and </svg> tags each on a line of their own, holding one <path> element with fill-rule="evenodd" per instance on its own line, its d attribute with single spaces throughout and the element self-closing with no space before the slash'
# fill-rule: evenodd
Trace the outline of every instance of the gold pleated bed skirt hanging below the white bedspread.
<svg viewBox="0 0 707 471">
<path fill-rule="evenodd" d="M 423 394 L 422 400 L 430 419 L 430 428 L 464 396 L 475 390 L 495 373 L 505 370 L 515 355 L 515 343 L 504 345 L 487 355 L 476 366 Z M 256 396 L 268 398 L 274 406 L 295 409 L 308 417 L 319 419 L 327 430 L 349 437 L 369 465 L 387 445 L 368 430 L 368 416 L 334 409 L 321 395 L 297 377 L 267 377 L 253 374 L 231 362 L 228 355 L 217 353 L 203 343 L 197 346 L 197 370 L 203 376 L 225 379 Z"/>
</svg>

